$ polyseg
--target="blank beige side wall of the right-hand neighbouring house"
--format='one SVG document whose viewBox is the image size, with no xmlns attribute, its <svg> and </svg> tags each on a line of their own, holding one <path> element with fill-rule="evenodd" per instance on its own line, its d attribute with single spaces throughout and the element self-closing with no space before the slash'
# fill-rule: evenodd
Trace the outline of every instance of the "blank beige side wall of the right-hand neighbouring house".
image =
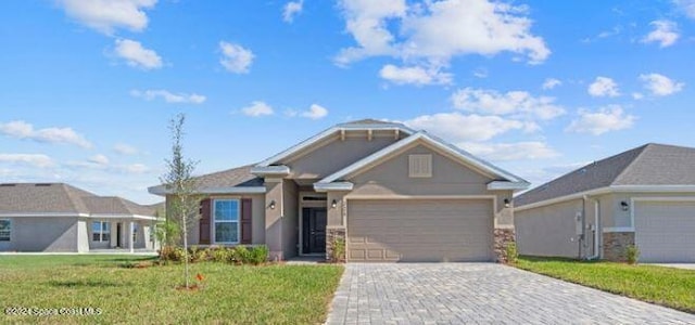
<svg viewBox="0 0 695 325">
<path fill-rule="evenodd" d="M 579 257 L 576 217 L 581 212 L 582 199 L 515 211 L 519 253 Z"/>
</svg>

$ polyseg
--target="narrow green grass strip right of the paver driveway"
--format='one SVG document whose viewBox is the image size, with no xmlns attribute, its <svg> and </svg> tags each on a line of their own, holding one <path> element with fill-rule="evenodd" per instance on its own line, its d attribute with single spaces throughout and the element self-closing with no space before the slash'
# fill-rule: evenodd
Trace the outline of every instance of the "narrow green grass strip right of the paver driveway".
<svg viewBox="0 0 695 325">
<path fill-rule="evenodd" d="M 695 313 L 695 271 L 656 265 L 521 257 L 519 269 Z"/>
</svg>

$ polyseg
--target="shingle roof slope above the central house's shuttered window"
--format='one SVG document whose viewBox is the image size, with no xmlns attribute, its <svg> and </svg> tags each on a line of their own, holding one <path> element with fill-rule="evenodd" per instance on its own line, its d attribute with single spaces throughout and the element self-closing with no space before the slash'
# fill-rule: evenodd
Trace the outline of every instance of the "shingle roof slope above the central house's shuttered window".
<svg viewBox="0 0 695 325">
<path fill-rule="evenodd" d="M 243 187 L 252 188 L 263 186 L 263 179 L 251 173 L 253 165 L 241 166 L 232 169 L 217 171 L 213 173 L 194 177 L 198 192 L 208 192 L 210 190 Z M 148 188 L 152 194 L 166 194 L 164 185 Z"/>
</svg>

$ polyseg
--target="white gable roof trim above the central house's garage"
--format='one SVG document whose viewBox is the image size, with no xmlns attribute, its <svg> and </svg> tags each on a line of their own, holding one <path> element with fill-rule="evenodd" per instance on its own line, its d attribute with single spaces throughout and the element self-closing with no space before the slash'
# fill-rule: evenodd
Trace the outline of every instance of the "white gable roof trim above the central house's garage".
<svg viewBox="0 0 695 325">
<path fill-rule="evenodd" d="M 502 170 L 501 168 L 497 168 L 495 166 L 493 166 L 492 164 L 480 159 L 473 155 L 471 155 L 470 153 L 454 146 L 450 143 L 447 143 L 446 141 L 437 138 L 434 135 L 431 135 L 425 131 L 419 131 L 408 138 L 405 138 L 401 141 L 394 142 L 393 144 L 358 160 L 355 161 L 354 164 L 324 178 L 323 180 L 320 180 L 318 183 L 325 184 L 325 183 L 331 183 L 334 181 L 340 181 L 342 180 L 344 177 L 352 174 L 358 170 L 362 170 L 363 168 L 384 158 L 388 157 L 390 154 L 397 152 L 399 150 L 402 150 L 406 146 L 408 146 L 412 143 L 415 143 L 416 141 L 424 141 L 426 143 L 429 143 L 431 145 L 434 145 L 437 147 L 439 147 L 440 150 L 443 150 L 445 152 L 447 152 L 448 154 L 453 155 L 454 157 L 458 158 L 459 160 L 471 165 L 476 168 L 478 168 L 479 170 L 482 170 L 483 172 L 490 173 L 492 176 L 494 176 L 496 181 L 506 181 L 506 182 L 511 182 L 511 183 L 518 183 L 519 187 L 526 188 L 528 186 L 528 182 L 515 174 L 511 174 L 505 170 Z"/>
</svg>

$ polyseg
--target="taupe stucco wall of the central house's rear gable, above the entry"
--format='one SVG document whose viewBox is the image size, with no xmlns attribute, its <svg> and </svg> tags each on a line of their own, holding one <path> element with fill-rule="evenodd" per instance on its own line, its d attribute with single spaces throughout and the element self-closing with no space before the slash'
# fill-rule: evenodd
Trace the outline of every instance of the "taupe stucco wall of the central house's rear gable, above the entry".
<svg viewBox="0 0 695 325">
<path fill-rule="evenodd" d="M 393 131 L 348 131 L 345 140 L 336 134 L 312 152 L 282 161 L 292 170 L 292 179 L 321 179 L 395 142 Z"/>
</svg>

